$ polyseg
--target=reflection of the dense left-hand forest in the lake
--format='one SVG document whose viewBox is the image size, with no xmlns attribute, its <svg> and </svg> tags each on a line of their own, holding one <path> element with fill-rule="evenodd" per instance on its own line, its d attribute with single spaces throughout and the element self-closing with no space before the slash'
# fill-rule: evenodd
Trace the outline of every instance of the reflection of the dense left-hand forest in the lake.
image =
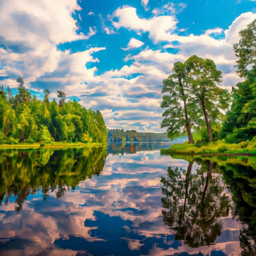
<svg viewBox="0 0 256 256">
<path fill-rule="evenodd" d="M 30 193 L 41 189 L 43 200 L 54 192 L 61 198 L 67 190 L 103 171 L 106 147 L 52 148 L 0 151 L 0 198 L 8 204 L 13 193 L 16 211 Z M 31 188 L 36 188 L 32 189 Z"/>
</svg>

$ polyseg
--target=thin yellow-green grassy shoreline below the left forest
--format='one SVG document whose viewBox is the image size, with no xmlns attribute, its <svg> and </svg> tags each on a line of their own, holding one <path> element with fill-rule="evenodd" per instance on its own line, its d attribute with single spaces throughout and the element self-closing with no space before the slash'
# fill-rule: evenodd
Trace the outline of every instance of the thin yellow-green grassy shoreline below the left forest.
<svg viewBox="0 0 256 256">
<path fill-rule="evenodd" d="M 77 142 L 77 143 L 65 143 L 65 142 L 54 142 L 52 144 L 39 144 L 39 143 L 33 143 L 33 144 L 2 144 L 0 145 L 0 149 L 16 149 L 16 148 L 77 148 L 77 147 L 90 147 L 90 146 L 107 146 L 107 144 L 103 143 L 82 143 L 82 142 Z"/>
</svg>

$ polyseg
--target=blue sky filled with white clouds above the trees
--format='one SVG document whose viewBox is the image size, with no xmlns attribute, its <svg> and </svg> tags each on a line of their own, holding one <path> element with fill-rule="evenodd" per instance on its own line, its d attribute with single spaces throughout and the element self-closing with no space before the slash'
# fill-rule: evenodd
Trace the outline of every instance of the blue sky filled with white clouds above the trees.
<svg viewBox="0 0 256 256">
<path fill-rule="evenodd" d="M 233 44 L 256 18 L 256 0 L 0 0 L 0 85 L 18 77 L 100 110 L 108 129 L 165 132 L 162 81 L 173 63 L 210 58 L 231 90 Z"/>
</svg>

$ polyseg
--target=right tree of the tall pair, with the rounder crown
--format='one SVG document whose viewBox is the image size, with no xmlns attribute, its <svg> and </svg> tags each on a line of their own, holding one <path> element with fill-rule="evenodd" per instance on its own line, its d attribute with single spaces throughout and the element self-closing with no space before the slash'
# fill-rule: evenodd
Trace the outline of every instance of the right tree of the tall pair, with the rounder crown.
<svg viewBox="0 0 256 256">
<path fill-rule="evenodd" d="M 217 86 L 221 82 L 221 71 L 217 70 L 215 63 L 210 59 L 203 59 L 196 55 L 185 62 L 189 79 L 187 85 L 190 91 L 189 101 L 202 107 L 207 127 L 208 141 L 212 139 L 210 119 L 222 121 L 222 112 L 227 110 L 230 95 L 227 90 Z"/>
</svg>

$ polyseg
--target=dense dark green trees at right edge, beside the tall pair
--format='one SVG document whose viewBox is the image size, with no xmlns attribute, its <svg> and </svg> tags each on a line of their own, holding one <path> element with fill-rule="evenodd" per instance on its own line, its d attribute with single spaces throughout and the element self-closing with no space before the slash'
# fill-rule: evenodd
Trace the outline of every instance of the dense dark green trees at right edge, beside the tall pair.
<svg viewBox="0 0 256 256">
<path fill-rule="evenodd" d="M 234 52 L 239 58 L 236 72 L 245 81 L 232 89 L 231 110 L 223 124 L 221 137 L 228 143 L 251 140 L 256 136 L 256 19 L 239 32 Z"/>
</svg>

